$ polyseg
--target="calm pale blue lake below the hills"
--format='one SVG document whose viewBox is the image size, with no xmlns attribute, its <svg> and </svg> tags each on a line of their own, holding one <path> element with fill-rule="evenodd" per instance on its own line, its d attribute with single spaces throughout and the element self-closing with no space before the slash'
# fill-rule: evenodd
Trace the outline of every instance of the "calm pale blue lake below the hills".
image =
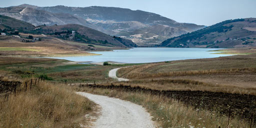
<svg viewBox="0 0 256 128">
<path fill-rule="evenodd" d="M 91 52 L 102 55 L 94 56 L 70 56 L 70 57 L 51 57 L 58 59 L 67 59 L 71 61 L 115 61 L 123 63 L 144 63 L 158 62 L 191 58 L 212 58 L 219 56 L 228 56 L 228 54 L 211 54 L 218 48 L 131 48 L 128 50 L 113 50 Z"/>
</svg>

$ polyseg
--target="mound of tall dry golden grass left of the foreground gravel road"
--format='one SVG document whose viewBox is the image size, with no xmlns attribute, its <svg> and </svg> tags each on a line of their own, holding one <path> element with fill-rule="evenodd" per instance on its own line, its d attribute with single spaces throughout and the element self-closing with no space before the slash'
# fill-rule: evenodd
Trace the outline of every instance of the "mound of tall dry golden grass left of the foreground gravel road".
<svg viewBox="0 0 256 128">
<path fill-rule="evenodd" d="M 23 91 L 23 90 L 22 90 Z M 42 82 L 0 100 L 0 127 L 78 127 L 76 118 L 93 103 L 64 85 Z"/>
</svg>

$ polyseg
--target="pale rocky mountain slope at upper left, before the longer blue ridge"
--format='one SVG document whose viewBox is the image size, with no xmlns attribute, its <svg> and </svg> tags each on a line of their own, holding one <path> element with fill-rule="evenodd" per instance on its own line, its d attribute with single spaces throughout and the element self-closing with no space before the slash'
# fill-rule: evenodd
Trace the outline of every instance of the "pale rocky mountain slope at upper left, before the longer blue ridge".
<svg viewBox="0 0 256 128">
<path fill-rule="evenodd" d="M 28 7 L 26 7 L 28 6 Z M 32 5 L 20 5 L 0 8 L 0 14 L 10 16 L 25 22 L 29 22 L 35 26 L 46 24 L 46 25 L 64 25 L 64 24 L 80 24 L 91 28 L 97 28 L 88 21 L 68 13 L 51 13 L 44 10 L 33 8 Z"/>
</svg>

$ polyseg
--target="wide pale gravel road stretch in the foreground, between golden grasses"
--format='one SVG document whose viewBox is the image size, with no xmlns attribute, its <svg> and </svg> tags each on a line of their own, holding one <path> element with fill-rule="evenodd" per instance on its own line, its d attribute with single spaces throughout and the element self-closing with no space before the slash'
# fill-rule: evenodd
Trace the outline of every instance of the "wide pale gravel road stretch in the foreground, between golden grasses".
<svg viewBox="0 0 256 128">
<path fill-rule="evenodd" d="M 95 95 L 85 92 L 76 92 L 101 106 L 101 116 L 95 121 L 95 128 L 122 127 L 122 128 L 150 128 L 153 121 L 146 110 L 129 101 Z"/>
</svg>

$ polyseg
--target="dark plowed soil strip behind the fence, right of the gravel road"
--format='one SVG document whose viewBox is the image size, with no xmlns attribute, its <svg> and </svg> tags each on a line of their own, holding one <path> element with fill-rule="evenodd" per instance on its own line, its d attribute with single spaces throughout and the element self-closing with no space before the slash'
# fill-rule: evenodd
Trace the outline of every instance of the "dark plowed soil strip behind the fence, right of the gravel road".
<svg viewBox="0 0 256 128">
<path fill-rule="evenodd" d="M 218 111 L 232 117 L 240 117 L 248 121 L 256 122 L 256 96 L 248 94 L 232 94 L 209 91 L 171 91 L 152 90 L 141 87 L 123 85 L 81 85 L 92 88 L 120 89 L 122 91 L 144 92 L 159 95 L 159 97 L 172 98 L 193 106 L 195 109 L 208 109 Z"/>
</svg>

